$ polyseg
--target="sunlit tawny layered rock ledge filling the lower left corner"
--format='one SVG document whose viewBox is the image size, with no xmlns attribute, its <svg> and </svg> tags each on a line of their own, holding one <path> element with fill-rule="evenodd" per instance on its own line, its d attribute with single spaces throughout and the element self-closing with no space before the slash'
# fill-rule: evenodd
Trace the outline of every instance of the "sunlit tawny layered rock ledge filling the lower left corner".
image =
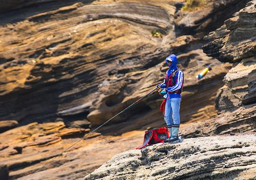
<svg viewBox="0 0 256 180">
<path fill-rule="evenodd" d="M 88 131 L 68 129 L 63 122 L 34 122 L 1 133 L 1 180 L 8 179 L 8 174 L 9 179 L 21 180 L 30 174 L 33 176 L 29 179 L 82 178 L 112 156 L 138 147 L 143 137 L 143 132 L 139 131 L 122 136 L 99 136 L 99 133 L 92 133 L 89 139 L 80 141 L 59 156 Z M 56 159 L 49 163 L 52 158 Z"/>
</svg>

